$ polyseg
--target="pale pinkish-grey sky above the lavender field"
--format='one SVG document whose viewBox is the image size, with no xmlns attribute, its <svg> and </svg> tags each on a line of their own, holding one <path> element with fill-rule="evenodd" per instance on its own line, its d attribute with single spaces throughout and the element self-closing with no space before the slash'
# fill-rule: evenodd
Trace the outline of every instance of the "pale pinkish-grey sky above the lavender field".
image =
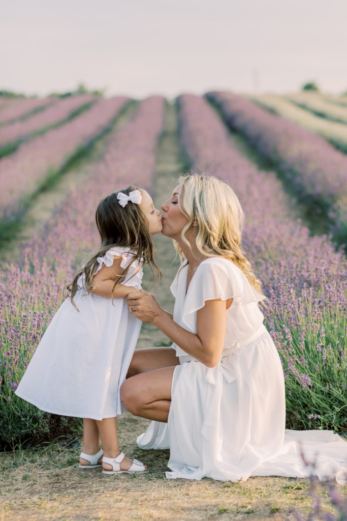
<svg viewBox="0 0 347 521">
<path fill-rule="evenodd" d="M 347 90 L 346 0 L 0 0 L 0 89 Z"/>
</svg>

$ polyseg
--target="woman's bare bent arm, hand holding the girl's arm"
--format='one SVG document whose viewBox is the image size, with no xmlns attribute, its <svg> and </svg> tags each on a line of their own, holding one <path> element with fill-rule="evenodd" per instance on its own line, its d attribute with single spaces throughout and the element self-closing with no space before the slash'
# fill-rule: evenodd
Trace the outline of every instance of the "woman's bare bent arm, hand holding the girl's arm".
<svg viewBox="0 0 347 521">
<path fill-rule="evenodd" d="M 127 304 L 143 322 L 155 324 L 175 344 L 202 364 L 214 367 L 220 361 L 224 346 L 226 308 L 230 300 L 208 300 L 197 312 L 197 333 L 179 326 L 171 316 L 147 295 L 130 293 Z M 134 309 L 135 306 L 135 309 Z"/>
</svg>

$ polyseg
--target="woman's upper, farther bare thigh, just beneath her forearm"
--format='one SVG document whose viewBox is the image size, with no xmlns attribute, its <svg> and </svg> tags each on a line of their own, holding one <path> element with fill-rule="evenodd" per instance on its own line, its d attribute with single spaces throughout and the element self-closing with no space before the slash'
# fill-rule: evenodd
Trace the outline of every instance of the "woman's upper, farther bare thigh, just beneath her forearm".
<svg viewBox="0 0 347 521">
<path fill-rule="evenodd" d="M 179 360 L 172 348 L 144 348 L 136 349 L 130 363 L 126 378 L 147 373 L 162 367 L 178 365 Z"/>
</svg>

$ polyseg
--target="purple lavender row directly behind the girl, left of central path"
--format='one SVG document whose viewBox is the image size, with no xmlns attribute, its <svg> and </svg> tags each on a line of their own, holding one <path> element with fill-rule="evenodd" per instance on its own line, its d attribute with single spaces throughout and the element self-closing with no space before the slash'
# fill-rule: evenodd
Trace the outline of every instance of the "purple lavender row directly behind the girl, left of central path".
<svg viewBox="0 0 347 521">
<path fill-rule="evenodd" d="M 38 237 L 23 249 L 0 283 L 1 440 L 47 437 L 50 416 L 20 400 L 14 390 L 42 333 L 62 301 L 62 287 L 98 244 L 95 209 L 102 197 L 130 180 L 151 191 L 163 127 L 164 98 L 141 102 L 133 119 L 110 133 L 106 155 L 78 190 L 67 194 Z M 37 424 L 35 426 L 35 424 Z M 0 443 L 1 444 L 1 443 Z"/>
</svg>

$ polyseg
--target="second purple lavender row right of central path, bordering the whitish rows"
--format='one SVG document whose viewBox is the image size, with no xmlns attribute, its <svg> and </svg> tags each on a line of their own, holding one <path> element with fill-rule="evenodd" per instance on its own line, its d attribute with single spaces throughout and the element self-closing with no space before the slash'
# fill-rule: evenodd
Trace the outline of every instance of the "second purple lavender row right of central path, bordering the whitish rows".
<svg viewBox="0 0 347 521">
<path fill-rule="evenodd" d="M 347 157 L 324 139 L 242 96 L 210 92 L 227 125 L 276 165 L 306 205 L 318 208 L 336 241 L 347 241 Z"/>
</svg>

